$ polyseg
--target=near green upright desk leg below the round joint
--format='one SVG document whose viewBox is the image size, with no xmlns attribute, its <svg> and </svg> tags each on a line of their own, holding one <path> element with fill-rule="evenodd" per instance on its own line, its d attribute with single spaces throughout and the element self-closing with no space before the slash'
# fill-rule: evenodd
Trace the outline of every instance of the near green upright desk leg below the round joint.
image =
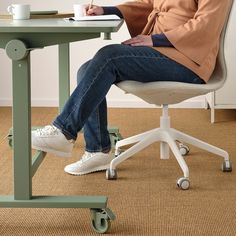
<svg viewBox="0 0 236 236">
<path fill-rule="evenodd" d="M 14 197 L 26 200 L 32 196 L 30 54 L 13 60 L 13 137 Z"/>
</svg>

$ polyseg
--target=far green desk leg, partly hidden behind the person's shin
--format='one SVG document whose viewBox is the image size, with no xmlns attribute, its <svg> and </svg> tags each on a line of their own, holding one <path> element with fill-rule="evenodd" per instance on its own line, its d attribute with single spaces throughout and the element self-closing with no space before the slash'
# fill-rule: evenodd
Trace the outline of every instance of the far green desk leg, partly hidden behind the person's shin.
<svg viewBox="0 0 236 236">
<path fill-rule="evenodd" d="M 62 111 L 70 96 L 70 46 L 69 43 L 58 46 L 59 56 L 59 112 Z"/>
</svg>

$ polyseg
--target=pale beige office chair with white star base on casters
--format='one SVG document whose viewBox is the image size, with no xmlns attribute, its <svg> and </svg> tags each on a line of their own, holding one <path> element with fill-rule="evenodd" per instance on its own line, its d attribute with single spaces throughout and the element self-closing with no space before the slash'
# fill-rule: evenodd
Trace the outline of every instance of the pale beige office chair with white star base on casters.
<svg viewBox="0 0 236 236">
<path fill-rule="evenodd" d="M 169 149 L 171 149 L 183 171 L 184 176 L 177 180 L 177 186 L 180 189 L 187 190 L 190 187 L 189 169 L 183 158 L 183 156 L 188 154 L 189 148 L 184 143 L 194 145 L 223 157 L 224 160 L 222 163 L 222 171 L 232 171 L 232 164 L 229 160 L 229 154 L 226 151 L 171 128 L 170 117 L 168 116 L 169 104 L 176 104 L 194 96 L 207 94 L 221 88 L 224 85 L 226 80 L 224 38 L 227 31 L 227 23 L 228 19 L 226 20 L 221 33 L 220 49 L 217 56 L 216 66 L 207 84 L 190 84 L 166 81 L 149 83 L 123 81 L 117 84 L 117 86 L 126 93 L 136 95 L 150 104 L 162 105 L 162 116 L 160 117 L 159 128 L 120 140 L 116 143 L 116 157 L 111 161 L 110 167 L 106 171 L 107 179 L 117 179 L 116 167 L 118 164 L 157 141 L 160 141 L 160 158 L 169 159 Z M 122 146 L 131 144 L 134 145 L 124 152 L 120 152 Z"/>
</svg>

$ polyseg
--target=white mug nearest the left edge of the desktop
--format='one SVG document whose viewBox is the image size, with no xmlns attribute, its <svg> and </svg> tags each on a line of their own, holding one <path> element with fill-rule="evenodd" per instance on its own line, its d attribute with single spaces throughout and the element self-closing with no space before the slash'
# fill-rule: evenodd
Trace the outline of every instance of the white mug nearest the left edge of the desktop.
<svg viewBox="0 0 236 236">
<path fill-rule="evenodd" d="M 27 4 L 11 4 L 8 6 L 7 11 L 14 20 L 27 20 L 30 18 L 30 5 Z"/>
</svg>

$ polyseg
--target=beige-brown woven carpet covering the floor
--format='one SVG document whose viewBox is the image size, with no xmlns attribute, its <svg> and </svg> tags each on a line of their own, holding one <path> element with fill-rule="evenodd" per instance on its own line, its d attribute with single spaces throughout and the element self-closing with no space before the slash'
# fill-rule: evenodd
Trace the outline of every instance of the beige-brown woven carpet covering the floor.
<svg viewBox="0 0 236 236">
<path fill-rule="evenodd" d="M 159 126 L 160 109 L 110 109 L 112 126 L 124 137 Z M 33 109 L 32 125 L 50 123 L 57 109 Z M 172 126 L 224 148 L 236 163 L 236 111 L 172 109 Z M 11 110 L 0 108 L 0 195 L 12 194 L 12 151 L 8 147 Z M 48 155 L 33 177 L 34 195 L 106 195 L 116 214 L 107 235 L 235 236 L 236 171 L 223 173 L 222 159 L 194 147 L 186 157 L 191 188 L 181 191 L 176 179 L 182 176 L 176 160 L 159 159 L 159 145 L 136 154 L 118 168 L 118 180 L 105 173 L 70 176 L 66 164 L 83 153 L 82 135 L 73 157 Z M 235 164 L 236 165 L 236 164 Z M 234 167 L 234 166 L 233 166 Z M 90 227 L 88 209 L 0 209 L 0 235 L 97 235 Z"/>
</svg>

